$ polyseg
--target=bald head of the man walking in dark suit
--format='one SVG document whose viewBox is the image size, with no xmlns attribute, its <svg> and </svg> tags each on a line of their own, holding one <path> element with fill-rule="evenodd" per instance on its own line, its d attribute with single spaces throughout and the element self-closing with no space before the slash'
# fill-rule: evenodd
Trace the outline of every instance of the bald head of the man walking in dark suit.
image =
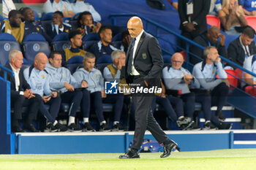
<svg viewBox="0 0 256 170">
<path fill-rule="evenodd" d="M 135 38 L 140 34 L 141 31 L 143 31 L 142 20 L 140 20 L 138 17 L 130 18 L 127 23 L 127 28 L 132 38 Z"/>
</svg>

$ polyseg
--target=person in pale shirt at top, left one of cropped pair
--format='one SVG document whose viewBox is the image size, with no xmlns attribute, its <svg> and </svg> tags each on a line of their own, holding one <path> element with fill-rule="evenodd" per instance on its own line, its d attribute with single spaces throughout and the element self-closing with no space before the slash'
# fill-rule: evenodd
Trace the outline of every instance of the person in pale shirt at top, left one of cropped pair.
<svg viewBox="0 0 256 170">
<path fill-rule="evenodd" d="M 72 18 L 75 14 L 69 1 L 65 0 L 47 0 L 43 6 L 43 11 L 46 13 L 60 11 L 63 12 L 65 18 Z"/>
</svg>

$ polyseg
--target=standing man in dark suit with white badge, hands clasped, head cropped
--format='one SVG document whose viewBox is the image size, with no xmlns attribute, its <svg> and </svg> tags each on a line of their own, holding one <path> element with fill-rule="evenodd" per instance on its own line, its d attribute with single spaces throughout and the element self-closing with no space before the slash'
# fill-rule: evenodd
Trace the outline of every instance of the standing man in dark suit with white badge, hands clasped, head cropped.
<svg viewBox="0 0 256 170">
<path fill-rule="evenodd" d="M 188 39 L 207 31 L 206 15 L 209 12 L 211 0 L 179 0 L 178 15 L 181 20 L 179 29 L 181 35 Z M 182 47 L 186 47 L 182 42 Z"/>
</svg>

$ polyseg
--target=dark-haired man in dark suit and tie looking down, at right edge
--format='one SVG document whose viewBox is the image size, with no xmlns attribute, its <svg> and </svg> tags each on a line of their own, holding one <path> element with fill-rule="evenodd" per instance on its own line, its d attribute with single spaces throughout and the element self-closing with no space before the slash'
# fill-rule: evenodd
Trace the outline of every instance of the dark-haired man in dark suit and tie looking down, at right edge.
<svg viewBox="0 0 256 170">
<path fill-rule="evenodd" d="M 251 27 L 246 27 L 241 36 L 238 36 L 227 48 L 227 56 L 230 61 L 237 63 L 240 66 L 244 65 L 244 58 L 249 55 L 256 54 L 256 46 L 253 39 L 255 38 L 255 30 Z"/>
</svg>

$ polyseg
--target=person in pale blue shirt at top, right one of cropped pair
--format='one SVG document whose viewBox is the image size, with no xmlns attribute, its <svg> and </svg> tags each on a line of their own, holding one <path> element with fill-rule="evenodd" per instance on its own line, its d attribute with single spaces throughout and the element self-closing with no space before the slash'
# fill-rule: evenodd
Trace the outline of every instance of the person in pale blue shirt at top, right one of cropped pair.
<svg viewBox="0 0 256 170">
<path fill-rule="evenodd" d="M 76 0 L 75 3 L 72 4 L 72 9 L 75 13 L 90 12 L 92 18 L 94 18 L 94 21 L 96 22 L 102 20 L 102 18 L 99 15 L 99 12 L 97 12 L 91 4 L 86 3 L 84 0 Z"/>
</svg>

